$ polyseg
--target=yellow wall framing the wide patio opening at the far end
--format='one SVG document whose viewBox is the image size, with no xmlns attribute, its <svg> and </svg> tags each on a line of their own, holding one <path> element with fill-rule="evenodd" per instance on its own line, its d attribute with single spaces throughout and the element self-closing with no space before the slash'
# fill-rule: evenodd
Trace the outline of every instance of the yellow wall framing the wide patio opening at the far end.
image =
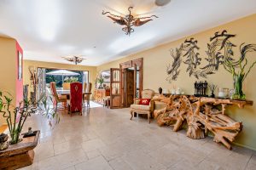
<svg viewBox="0 0 256 170">
<path fill-rule="evenodd" d="M 95 66 L 84 66 L 84 65 L 66 65 L 59 63 L 49 63 L 33 60 L 24 60 L 23 66 L 23 84 L 30 84 L 30 73 L 28 68 L 30 66 L 43 67 L 43 68 L 52 68 L 52 69 L 67 69 L 73 71 L 89 71 L 89 82 L 92 82 L 92 89 L 95 88 L 95 79 L 96 79 L 96 67 Z M 30 88 L 32 90 L 32 87 Z"/>
</svg>

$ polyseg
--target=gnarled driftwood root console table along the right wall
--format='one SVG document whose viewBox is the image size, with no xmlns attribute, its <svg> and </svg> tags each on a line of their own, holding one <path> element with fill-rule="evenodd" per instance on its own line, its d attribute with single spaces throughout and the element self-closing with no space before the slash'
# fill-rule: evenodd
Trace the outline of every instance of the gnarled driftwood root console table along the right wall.
<svg viewBox="0 0 256 170">
<path fill-rule="evenodd" d="M 253 105 L 249 100 L 216 99 L 189 95 L 160 96 L 155 99 L 166 103 L 166 108 L 154 110 L 154 118 L 160 126 L 174 125 L 177 132 L 187 122 L 187 136 L 191 139 L 205 138 L 208 131 L 213 141 L 224 144 L 229 150 L 230 142 L 241 132 L 242 123 L 225 115 L 227 105 Z"/>
</svg>

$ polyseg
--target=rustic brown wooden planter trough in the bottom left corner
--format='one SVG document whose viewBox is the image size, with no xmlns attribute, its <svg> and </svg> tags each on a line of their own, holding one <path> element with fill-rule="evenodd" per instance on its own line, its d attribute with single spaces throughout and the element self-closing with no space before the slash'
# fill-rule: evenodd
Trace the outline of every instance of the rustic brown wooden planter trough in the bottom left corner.
<svg viewBox="0 0 256 170">
<path fill-rule="evenodd" d="M 40 131 L 36 136 L 22 139 L 18 144 L 9 145 L 7 150 L 0 150 L 0 169 L 17 169 L 32 165 L 34 148 L 38 145 Z"/>
</svg>

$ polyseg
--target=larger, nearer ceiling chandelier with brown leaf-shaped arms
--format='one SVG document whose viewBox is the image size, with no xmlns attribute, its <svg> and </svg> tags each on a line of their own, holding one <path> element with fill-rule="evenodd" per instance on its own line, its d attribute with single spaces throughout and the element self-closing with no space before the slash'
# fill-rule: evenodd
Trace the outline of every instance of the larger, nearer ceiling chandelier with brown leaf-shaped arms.
<svg viewBox="0 0 256 170">
<path fill-rule="evenodd" d="M 108 18 L 113 20 L 114 21 L 113 23 L 117 23 L 121 26 L 125 26 L 122 29 L 122 31 L 125 31 L 125 34 L 129 36 L 131 32 L 134 32 L 134 29 L 132 28 L 133 26 L 143 26 L 148 21 L 152 20 L 152 17 L 158 18 L 158 16 L 156 15 L 151 15 L 148 17 L 134 17 L 131 14 L 132 8 L 133 7 L 128 8 L 129 14 L 125 16 L 119 16 L 119 15 L 111 14 L 110 12 L 104 12 L 104 11 L 102 11 L 102 14 L 108 14 Z"/>
</svg>

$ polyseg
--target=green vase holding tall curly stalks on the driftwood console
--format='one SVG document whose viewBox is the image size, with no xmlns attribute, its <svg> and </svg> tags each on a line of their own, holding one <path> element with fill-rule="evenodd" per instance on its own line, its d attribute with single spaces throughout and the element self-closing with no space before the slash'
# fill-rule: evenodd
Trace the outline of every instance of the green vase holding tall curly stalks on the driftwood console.
<svg viewBox="0 0 256 170">
<path fill-rule="evenodd" d="M 242 92 L 242 81 L 243 74 L 234 75 L 234 93 L 232 94 L 232 99 L 246 99 L 245 94 Z"/>
</svg>

